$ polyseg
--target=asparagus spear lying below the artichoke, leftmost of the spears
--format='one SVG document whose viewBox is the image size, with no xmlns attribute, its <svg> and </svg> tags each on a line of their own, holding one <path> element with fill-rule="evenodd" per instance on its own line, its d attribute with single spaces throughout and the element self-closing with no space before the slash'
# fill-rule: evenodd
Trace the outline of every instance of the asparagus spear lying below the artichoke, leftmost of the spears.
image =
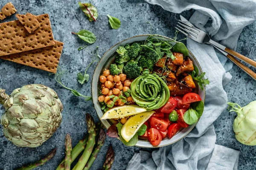
<svg viewBox="0 0 256 170">
<path fill-rule="evenodd" d="M 39 167 L 39 166 L 45 164 L 47 161 L 52 159 L 52 157 L 56 153 L 56 150 L 57 150 L 57 148 L 54 148 L 53 150 L 51 150 L 51 152 L 49 152 L 46 156 L 44 156 L 44 158 L 40 159 L 39 161 L 36 161 L 29 165 L 22 166 L 22 167 L 18 168 L 17 170 L 32 170 L 36 167 Z"/>
</svg>

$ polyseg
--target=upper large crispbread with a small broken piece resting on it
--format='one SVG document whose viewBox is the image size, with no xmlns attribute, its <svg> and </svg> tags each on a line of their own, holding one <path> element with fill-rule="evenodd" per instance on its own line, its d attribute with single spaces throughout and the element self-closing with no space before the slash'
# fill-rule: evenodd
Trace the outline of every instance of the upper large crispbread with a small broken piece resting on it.
<svg viewBox="0 0 256 170">
<path fill-rule="evenodd" d="M 0 24 L 0 56 L 54 45 L 48 14 L 37 16 L 40 27 L 29 34 L 19 20 Z"/>
</svg>

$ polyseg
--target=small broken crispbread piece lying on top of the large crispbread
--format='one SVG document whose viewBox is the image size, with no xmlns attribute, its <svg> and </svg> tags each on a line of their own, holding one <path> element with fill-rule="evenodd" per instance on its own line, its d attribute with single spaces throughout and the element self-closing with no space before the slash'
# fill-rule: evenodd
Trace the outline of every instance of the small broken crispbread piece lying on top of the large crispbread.
<svg viewBox="0 0 256 170">
<path fill-rule="evenodd" d="M 16 17 L 18 18 L 20 23 L 22 23 L 22 25 L 26 28 L 29 34 L 34 32 L 40 26 L 40 23 L 36 19 L 36 16 L 30 13 L 26 13 L 26 15 L 16 14 Z"/>
</svg>

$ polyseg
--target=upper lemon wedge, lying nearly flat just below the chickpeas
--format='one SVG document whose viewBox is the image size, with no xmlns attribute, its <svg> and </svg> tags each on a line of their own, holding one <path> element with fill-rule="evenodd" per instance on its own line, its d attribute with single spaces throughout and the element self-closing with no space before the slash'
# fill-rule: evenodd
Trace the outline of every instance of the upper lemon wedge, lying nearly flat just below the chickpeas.
<svg viewBox="0 0 256 170">
<path fill-rule="evenodd" d="M 101 119 L 118 119 L 147 111 L 138 105 L 123 105 L 108 110 Z"/>
</svg>

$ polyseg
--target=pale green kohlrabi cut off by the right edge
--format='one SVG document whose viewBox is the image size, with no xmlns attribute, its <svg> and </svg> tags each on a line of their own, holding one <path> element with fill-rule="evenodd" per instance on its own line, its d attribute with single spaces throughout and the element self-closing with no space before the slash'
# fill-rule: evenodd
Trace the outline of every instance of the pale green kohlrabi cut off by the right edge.
<svg viewBox="0 0 256 170">
<path fill-rule="evenodd" d="M 240 107 L 236 103 L 227 103 L 231 111 L 237 113 L 233 123 L 233 130 L 236 139 L 242 144 L 256 145 L 256 101 L 250 102 L 247 106 Z"/>
</svg>

